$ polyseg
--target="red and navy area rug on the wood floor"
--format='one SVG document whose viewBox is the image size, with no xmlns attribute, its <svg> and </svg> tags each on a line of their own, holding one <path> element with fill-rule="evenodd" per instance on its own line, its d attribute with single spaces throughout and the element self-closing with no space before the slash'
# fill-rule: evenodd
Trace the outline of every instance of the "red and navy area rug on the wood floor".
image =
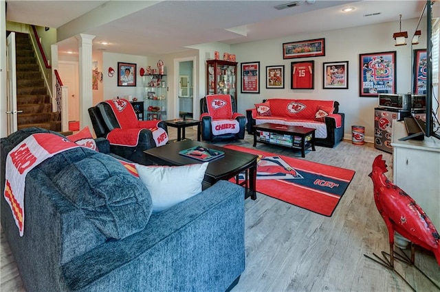
<svg viewBox="0 0 440 292">
<path fill-rule="evenodd" d="M 256 191 L 320 215 L 331 216 L 355 171 L 270 152 L 225 145 L 259 156 Z"/>
</svg>

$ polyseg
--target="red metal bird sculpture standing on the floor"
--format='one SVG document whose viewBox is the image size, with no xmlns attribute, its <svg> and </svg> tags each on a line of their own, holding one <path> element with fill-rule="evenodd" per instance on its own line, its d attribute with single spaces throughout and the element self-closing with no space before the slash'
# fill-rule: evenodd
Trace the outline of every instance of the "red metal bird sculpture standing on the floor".
<svg viewBox="0 0 440 292">
<path fill-rule="evenodd" d="M 369 177 L 373 180 L 377 210 L 388 228 L 391 268 L 394 268 L 394 231 L 412 243 L 434 252 L 440 266 L 439 232 L 414 199 L 386 178 L 387 171 L 385 160 L 382 160 L 382 154 L 380 154 L 373 162 L 373 171 Z M 413 262 L 414 249 L 411 253 Z"/>
</svg>

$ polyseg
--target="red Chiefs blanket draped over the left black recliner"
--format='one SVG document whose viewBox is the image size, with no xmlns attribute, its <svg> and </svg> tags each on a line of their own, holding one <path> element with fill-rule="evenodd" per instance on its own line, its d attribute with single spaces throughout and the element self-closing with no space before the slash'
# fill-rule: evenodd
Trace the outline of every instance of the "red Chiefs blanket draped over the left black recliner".
<svg viewBox="0 0 440 292">
<path fill-rule="evenodd" d="M 158 121 L 137 121 L 133 106 L 126 99 L 111 99 L 105 102 L 111 106 L 120 126 L 120 129 L 113 129 L 107 134 L 111 145 L 135 147 L 143 129 L 152 132 L 156 146 L 162 146 L 168 142 L 166 131 L 162 127 L 157 127 Z"/>
</svg>

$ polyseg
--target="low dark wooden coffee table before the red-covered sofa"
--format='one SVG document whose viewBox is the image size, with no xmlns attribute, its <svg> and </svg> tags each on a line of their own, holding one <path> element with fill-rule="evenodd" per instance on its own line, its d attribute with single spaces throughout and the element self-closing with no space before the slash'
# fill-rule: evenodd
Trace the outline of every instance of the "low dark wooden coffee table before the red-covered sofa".
<svg viewBox="0 0 440 292">
<path fill-rule="evenodd" d="M 301 156 L 305 157 L 305 149 L 309 149 L 311 147 L 312 151 L 315 151 L 315 130 L 310 127 L 299 127 L 296 125 L 278 125 L 275 123 L 262 123 L 261 125 L 254 125 L 254 147 L 256 146 L 256 143 L 265 143 L 265 144 L 272 144 L 272 145 L 278 145 L 283 147 L 289 147 L 293 149 L 300 149 L 301 150 Z M 294 136 L 299 136 L 301 138 L 300 145 L 287 145 L 287 142 L 285 145 L 280 143 L 271 143 L 270 141 L 257 139 L 257 131 L 263 131 L 263 132 L 269 132 L 269 133 L 275 133 L 275 134 L 281 134 L 281 135 L 287 135 L 292 137 L 292 142 L 294 142 Z M 305 137 L 311 135 L 310 142 L 307 144 L 305 141 Z M 306 145 L 307 144 L 307 145 Z"/>
</svg>

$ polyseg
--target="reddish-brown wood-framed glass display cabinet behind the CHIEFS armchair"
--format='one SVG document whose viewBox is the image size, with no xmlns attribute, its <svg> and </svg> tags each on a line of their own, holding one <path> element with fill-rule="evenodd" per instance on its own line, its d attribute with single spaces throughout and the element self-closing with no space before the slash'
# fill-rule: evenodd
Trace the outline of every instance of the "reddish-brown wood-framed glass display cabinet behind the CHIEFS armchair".
<svg viewBox="0 0 440 292">
<path fill-rule="evenodd" d="M 206 61 L 206 92 L 234 97 L 236 104 L 236 64 L 223 60 Z"/>
</svg>

